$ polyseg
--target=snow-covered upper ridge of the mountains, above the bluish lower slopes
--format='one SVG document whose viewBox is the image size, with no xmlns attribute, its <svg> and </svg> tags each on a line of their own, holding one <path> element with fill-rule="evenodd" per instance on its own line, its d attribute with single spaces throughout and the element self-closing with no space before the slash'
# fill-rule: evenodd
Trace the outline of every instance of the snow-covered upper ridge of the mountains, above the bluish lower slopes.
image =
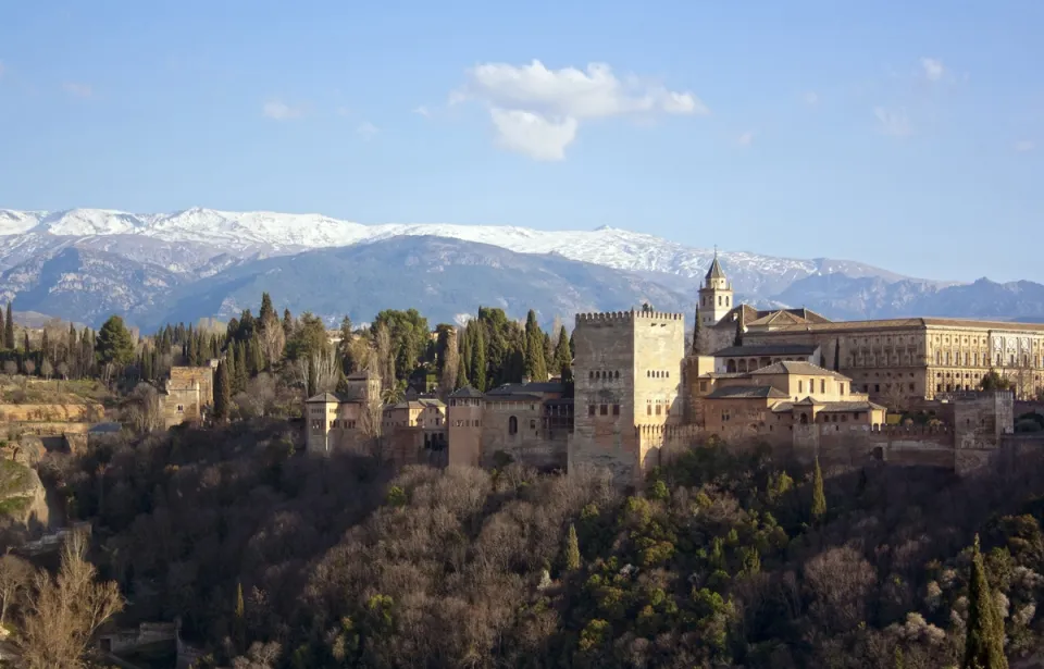
<svg viewBox="0 0 1044 669">
<path fill-rule="evenodd" d="M 263 258 L 308 249 L 346 247 L 395 237 L 434 236 L 499 246 L 517 253 L 558 253 L 631 272 L 698 277 L 713 251 L 691 248 L 652 235 L 612 227 L 594 231 L 537 231 L 524 227 L 453 224 L 362 225 L 321 214 L 227 212 L 187 209 L 172 214 L 135 214 L 102 209 L 69 211 L 0 210 L 0 268 L 24 262 L 59 246 L 124 253 L 175 273 L 214 273 L 236 259 Z M 722 251 L 721 261 L 736 290 L 768 297 L 794 281 L 818 274 L 903 276 L 858 262 L 796 260 L 742 251 Z"/>
</svg>

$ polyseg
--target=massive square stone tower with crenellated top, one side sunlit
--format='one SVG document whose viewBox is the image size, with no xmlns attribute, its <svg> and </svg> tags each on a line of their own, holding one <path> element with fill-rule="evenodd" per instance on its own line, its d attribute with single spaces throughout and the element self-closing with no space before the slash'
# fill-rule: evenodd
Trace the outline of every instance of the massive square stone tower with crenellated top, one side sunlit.
<svg viewBox="0 0 1044 669">
<path fill-rule="evenodd" d="M 647 461 L 643 426 L 682 422 L 685 319 L 651 309 L 581 313 L 573 330 L 574 423 L 568 471 L 606 467 L 619 484 L 639 484 Z"/>
</svg>

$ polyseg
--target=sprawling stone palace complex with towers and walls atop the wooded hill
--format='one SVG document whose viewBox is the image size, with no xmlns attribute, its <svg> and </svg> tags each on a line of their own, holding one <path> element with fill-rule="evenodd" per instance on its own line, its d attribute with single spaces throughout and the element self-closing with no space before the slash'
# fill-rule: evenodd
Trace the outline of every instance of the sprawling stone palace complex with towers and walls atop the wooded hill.
<svg viewBox="0 0 1044 669">
<path fill-rule="evenodd" d="M 518 460 L 604 467 L 622 483 L 694 441 L 718 435 L 801 456 L 874 457 L 967 471 L 1011 432 L 1015 397 L 1042 389 L 1044 324 L 910 318 L 832 322 L 807 309 L 733 301 L 714 258 L 695 331 L 681 313 L 581 313 L 572 388 L 558 380 L 463 387 L 382 406 L 380 380 L 307 402 L 307 448 L 397 461 L 446 450 L 449 464 Z M 987 372 L 1015 392 L 977 392 Z M 571 391 L 571 393 L 570 393 Z M 930 426 L 893 425 L 885 407 L 929 408 Z"/>
</svg>

